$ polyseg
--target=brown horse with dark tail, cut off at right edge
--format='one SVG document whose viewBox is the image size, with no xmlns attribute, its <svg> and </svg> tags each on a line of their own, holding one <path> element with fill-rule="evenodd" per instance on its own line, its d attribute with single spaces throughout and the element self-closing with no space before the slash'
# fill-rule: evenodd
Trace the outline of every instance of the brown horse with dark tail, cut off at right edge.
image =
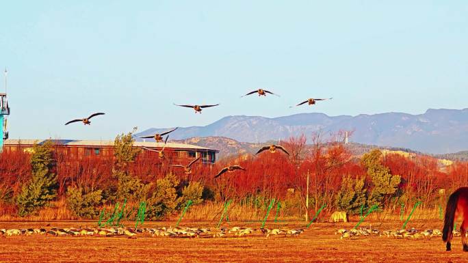
<svg viewBox="0 0 468 263">
<path fill-rule="evenodd" d="M 463 219 L 460 225 L 463 251 L 468 251 L 467 227 L 468 227 L 468 187 L 461 187 L 450 195 L 445 208 L 445 220 L 443 221 L 442 240 L 447 243 L 447 251 L 452 250 L 450 240 L 453 237 L 455 219 Z"/>
</svg>

